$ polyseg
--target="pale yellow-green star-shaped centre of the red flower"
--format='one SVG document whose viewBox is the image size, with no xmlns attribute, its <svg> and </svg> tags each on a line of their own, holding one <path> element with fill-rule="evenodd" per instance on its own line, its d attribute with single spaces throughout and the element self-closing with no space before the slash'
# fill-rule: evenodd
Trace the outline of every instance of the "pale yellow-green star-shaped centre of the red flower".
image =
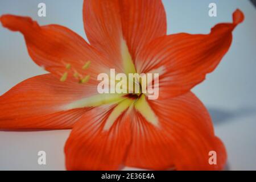
<svg viewBox="0 0 256 182">
<path fill-rule="evenodd" d="M 151 123 L 154 126 L 158 126 L 158 117 L 156 117 L 154 111 L 152 110 L 151 106 L 149 105 L 146 99 L 146 93 L 143 92 L 144 84 L 141 78 L 141 75 L 138 76 L 136 72 L 135 65 L 133 60 L 131 59 L 131 55 L 129 50 L 126 46 L 125 41 L 122 41 L 121 53 L 122 53 L 122 61 L 123 61 L 123 68 L 126 75 L 125 81 L 126 84 L 122 84 L 122 87 L 125 87 L 128 92 L 126 93 L 117 93 L 117 92 L 110 92 L 110 93 L 100 93 L 96 94 L 91 97 L 83 98 L 81 100 L 72 102 L 71 104 L 65 105 L 64 109 L 75 109 L 80 107 L 97 107 L 102 105 L 113 105 L 114 109 L 110 113 L 109 117 L 106 120 L 104 125 L 104 130 L 109 130 L 113 123 L 117 120 L 117 118 L 123 113 L 129 114 L 133 108 L 135 111 L 140 113 L 147 122 Z M 111 70 L 110 70 L 111 71 Z M 111 72 L 110 72 L 111 73 Z M 137 74 L 137 76 L 133 77 L 130 80 L 129 75 L 130 73 Z M 128 76 L 128 81 L 127 81 Z M 146 76 L 146 75 L 145 75 Z M 115 85 L 115 77 L 112 78 L 110 74 L 110 79 L 107 78 L 108 83 L 110 82 L 110 91 Z M 147 80 L 147 76 L 146 76 Z M 123 80 L 124 81 L 124 80 Z M 131 86 L 129 82 L 132 82 L 133 91 L 131 91 Z M 109 84 L 108 84 L 109 86 Z M 114 86 L 115 88 L 115 86 Z"/>
</svg>

